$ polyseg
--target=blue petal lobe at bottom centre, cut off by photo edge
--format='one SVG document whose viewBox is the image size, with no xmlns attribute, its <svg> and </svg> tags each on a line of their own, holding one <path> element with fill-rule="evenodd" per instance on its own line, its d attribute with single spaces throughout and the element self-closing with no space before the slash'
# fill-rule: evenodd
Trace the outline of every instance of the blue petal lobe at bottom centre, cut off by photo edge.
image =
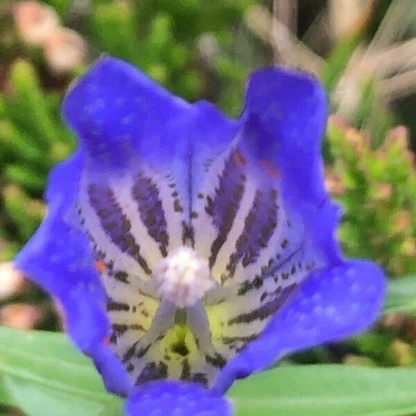
<svg viewBox="0 0 416 416">
<path fill-rule="evenodd" d="M 126 416 L 229 416 L 232 406 L 198 384 L 179 381 L 147 383 L 130 395 Z"/>
</svg>

